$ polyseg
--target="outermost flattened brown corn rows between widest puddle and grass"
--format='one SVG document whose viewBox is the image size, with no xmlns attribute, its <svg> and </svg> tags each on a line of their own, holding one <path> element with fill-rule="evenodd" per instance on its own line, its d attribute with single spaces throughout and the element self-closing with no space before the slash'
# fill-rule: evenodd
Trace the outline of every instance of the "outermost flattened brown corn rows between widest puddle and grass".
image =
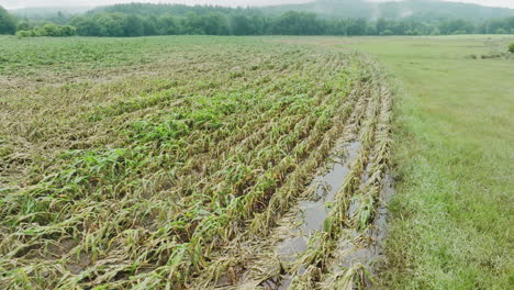
<svg viewBox="0 0 514 290">
<path fill-rule="evenodd" d="M 309 248 L 292 267 L 297 275 L 290 289 L 364 289 L 370 281 L 370 258 L 356 253 L 373 243 L 372 221 L 386 183 L 391 148 L 390 92 L 380 70 L 373 65 L 370 68 L 373 101 L 360 135 L 361 152 L 323 231 L 311 238 Z"/>
</svg>

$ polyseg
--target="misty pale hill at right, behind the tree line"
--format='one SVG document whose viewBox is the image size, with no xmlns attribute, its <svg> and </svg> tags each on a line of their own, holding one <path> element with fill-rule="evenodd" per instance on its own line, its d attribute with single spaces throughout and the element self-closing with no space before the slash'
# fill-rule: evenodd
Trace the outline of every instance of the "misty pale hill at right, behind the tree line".
<svg viewBox="0 0 514 290">
<path fill-rule="evenodd" d="M 514 9 L 483 7 L 440 0 L 405 0 L 368 2 L 366 0 L 317 0 L 303 4 L 281 4 L 262 8 L 268 13 L 281 14 L 294 10 L 314 12 L 323 18 L 402 19 L 413 16 L 424 20 L 491 19 L 514 16 Z"/>
</svg>

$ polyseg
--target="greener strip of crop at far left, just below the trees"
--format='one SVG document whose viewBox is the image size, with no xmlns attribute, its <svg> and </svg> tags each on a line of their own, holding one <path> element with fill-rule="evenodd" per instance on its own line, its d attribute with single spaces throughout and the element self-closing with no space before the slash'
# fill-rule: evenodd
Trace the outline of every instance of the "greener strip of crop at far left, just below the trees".
<svg viewBox="0 0 514 290">
<path fill-rule="evenodd" d="M 25 37 L 36 36 L 33 30 L 21 33 L 27 33 Z M 157 45 L 159 43 L 169 45 L 163 48 Z M 183 43 L 170 38 L 164 41 L 163 37 L 134 37 L 124 42 L 109 37 L 41 37 L 35 42 L 20 42 L 14 37 L 0 36 L 0 75 L 35 76 L 40 75 L 42 67 L 47 72 L 66 72 L 144 66 L 154 62 L 159 52 L 170 54 L 183 49 Z M 145 49 L 145 45 L 149 47 Z"/>
</svg>

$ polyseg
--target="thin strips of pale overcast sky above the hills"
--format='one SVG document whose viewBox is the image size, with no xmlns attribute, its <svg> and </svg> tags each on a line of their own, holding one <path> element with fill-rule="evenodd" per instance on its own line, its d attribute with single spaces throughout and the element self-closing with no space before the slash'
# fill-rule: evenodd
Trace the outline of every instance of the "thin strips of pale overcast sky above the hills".
<svg viewBox="0 0 514 290">
<path fill-rule="evenodd" d="M 312 0 L 0 0 L 0 5 L 7 9 L 25 7 L 97 7 L 123 2 L 154 2 L 181 4 L 219 4 L 219 5 L 269 5 L 281 3 L 302 3 Z M 388 0 L 369 0 L 375 2 Z M 478 3 L 514 8 L 514 0 L 451 0 L 455 2 Z"/>
</svg>

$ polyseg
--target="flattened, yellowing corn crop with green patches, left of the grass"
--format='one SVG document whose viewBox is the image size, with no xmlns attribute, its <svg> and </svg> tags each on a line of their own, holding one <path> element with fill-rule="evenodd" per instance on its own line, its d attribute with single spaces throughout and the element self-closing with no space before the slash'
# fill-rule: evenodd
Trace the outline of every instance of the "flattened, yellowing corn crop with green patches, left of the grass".
<svg viewBox="0 0 514 290">
<path fill-rule="evenodd" d="M 183 46 L 103 81 L 8 82 L 0 288 L 339 289 L 364 279 L 335 253 L 342 241 L 366 245 L 387 174 L 391 100 L 377 66 L 309 46 Z M 299 202 L 335 145 L 351 142 L 360 146 L 344 158 L 349 172 L 322 228 L 283 263 L 276 248 Z"/>
</svg>

